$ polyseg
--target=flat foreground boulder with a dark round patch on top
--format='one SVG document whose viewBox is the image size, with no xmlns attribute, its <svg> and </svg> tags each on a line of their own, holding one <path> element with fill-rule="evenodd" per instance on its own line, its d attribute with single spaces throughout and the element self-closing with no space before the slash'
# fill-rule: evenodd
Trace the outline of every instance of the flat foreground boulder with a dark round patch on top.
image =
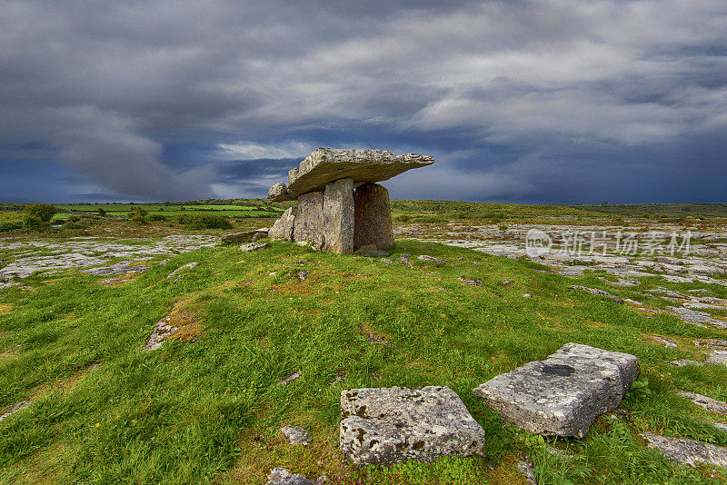
<svg viewBox="0 0 727 485">
<path fill-rule="evenodd" d="M 633 355 L 566 343 L 546 360 L 500 374 L 473 393 L 527 431 L 583 438 L 638 376 Z"/>
</svg>

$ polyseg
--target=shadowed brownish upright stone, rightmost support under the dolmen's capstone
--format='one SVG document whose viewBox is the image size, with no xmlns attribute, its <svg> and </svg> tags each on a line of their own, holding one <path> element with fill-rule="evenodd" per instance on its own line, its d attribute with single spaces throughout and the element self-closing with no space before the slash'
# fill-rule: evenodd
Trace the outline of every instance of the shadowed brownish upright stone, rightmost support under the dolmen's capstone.
<svg viewBox="0 0 727 485">
<path fill-rule="evenodd" d="M 354 248 L 369 244 L 376 249 L 393 248 L 389 191 L 378 183 L 364 183 L 354 192 Z"/>
</svg>

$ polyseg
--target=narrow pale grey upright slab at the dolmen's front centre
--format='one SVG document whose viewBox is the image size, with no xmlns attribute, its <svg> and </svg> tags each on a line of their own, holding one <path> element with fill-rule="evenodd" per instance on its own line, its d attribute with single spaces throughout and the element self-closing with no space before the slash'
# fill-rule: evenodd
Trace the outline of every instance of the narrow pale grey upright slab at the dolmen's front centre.
<svg viewBox="0 0 727 485">
<path fill-rule="evenodd" d="M 341 179 L 325 186 L 324 250 L 354 252 L 354 179 Z"/>
</svg>

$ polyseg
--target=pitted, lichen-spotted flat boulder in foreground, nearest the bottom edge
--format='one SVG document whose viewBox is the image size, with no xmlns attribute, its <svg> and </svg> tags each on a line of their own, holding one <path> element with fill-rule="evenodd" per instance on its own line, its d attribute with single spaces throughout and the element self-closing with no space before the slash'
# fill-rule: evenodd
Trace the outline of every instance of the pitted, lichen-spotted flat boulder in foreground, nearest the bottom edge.
<svg viewBox="0 0 727 485">
<path fill-rule="evenodd" d="M 341 392 L 341 450 L 354 463 L 430 462 L 480 453 L 484 431 L 448 387 Z"/>
</svg>

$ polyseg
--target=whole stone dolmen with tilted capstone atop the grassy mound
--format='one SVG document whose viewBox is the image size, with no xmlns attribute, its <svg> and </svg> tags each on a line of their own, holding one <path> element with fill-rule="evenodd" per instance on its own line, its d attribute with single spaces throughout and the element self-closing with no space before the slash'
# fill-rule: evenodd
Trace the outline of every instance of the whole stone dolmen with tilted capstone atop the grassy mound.
<svg viewBox="0 0 727 485">
<path fill-rule="evenodd" d="M 298 212 L 288 208 L 269 236 L 339 254 L 364 246 L 391 249 L 389 191 L 377 182 L 432 163 L 418 153 L 319 148 L 288 172 L 287 184 L 268 191 L 274 202 L 298 201 Z"/>
</svg>

